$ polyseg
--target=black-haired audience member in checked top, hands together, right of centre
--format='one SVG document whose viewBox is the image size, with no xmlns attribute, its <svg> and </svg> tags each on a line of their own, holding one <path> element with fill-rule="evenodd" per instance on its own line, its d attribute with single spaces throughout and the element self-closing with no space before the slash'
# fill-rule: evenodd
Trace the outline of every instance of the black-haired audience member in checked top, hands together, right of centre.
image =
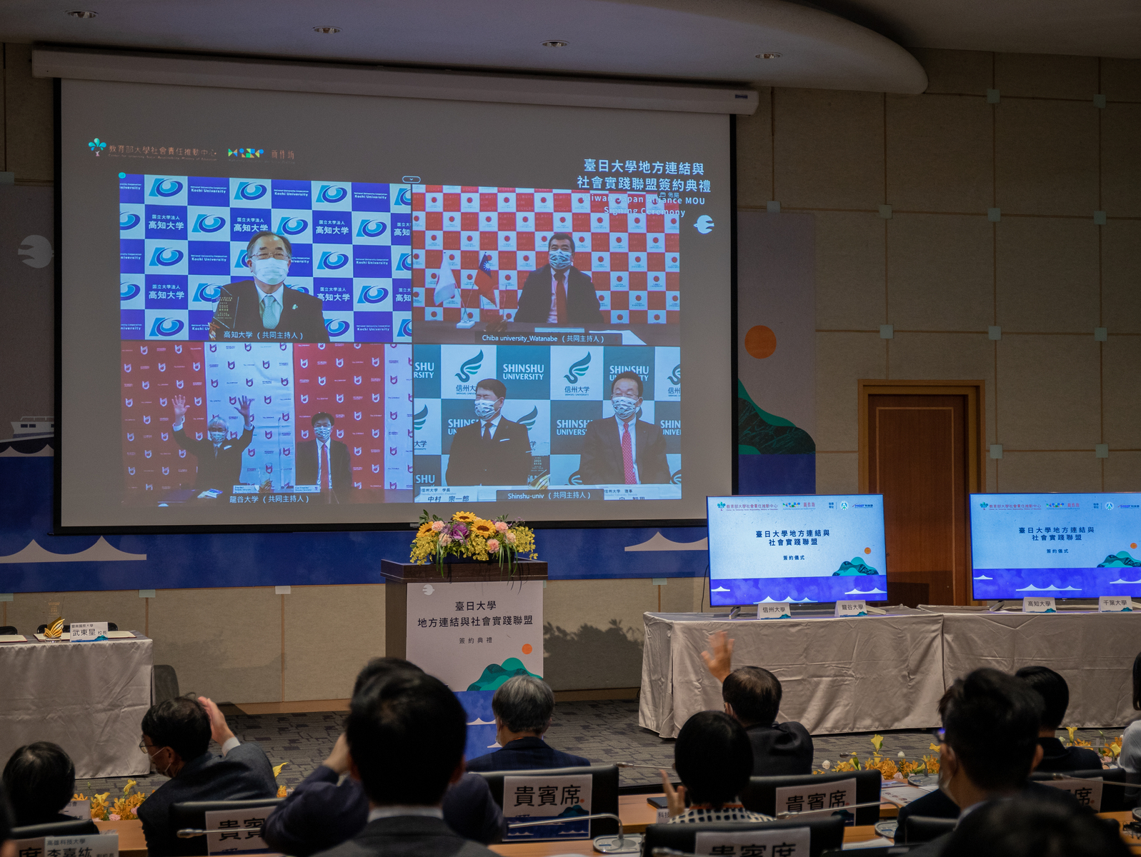
<svg viewBox="0 0 1141 857">
<path fill-rule="evenodd" d="M 737 799 L 753 771 L 753 749 L 742 725 L 725 712 L 698 711 L 686 721 L 673 745 L 673 769 L 681 777 L 677 789 L 662 771 L 670 824 L 772 820 Z"/>
</svg>

